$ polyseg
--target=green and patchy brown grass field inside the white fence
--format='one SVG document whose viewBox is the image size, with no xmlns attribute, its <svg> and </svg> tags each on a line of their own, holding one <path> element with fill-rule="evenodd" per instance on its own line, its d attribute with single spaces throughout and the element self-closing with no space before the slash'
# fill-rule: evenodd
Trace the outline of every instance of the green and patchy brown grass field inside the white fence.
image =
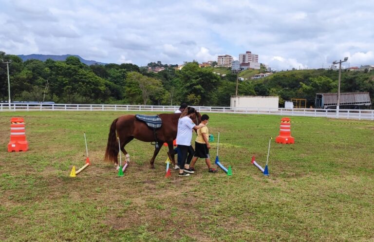
<svg viewBox="0 0 374 242">
<path fill-rule="evenodd" d="M 103 162 L 109 125 L 123 112 L 0 112 L 0 241 L 374 241 L 374 122 L 290 117 L 293 145 L 271 143 L 281 116 L 209 114 L 222 164 L 164 178 L 163 148 L 132 141 L 118 177 Z M 10 118 L 26 122 L 30 150 L 7 152 Z M 92 166 L 85 163 L 86 132 Z M 216 154 L 212 144 L 212 157 Z"/>
</svg>

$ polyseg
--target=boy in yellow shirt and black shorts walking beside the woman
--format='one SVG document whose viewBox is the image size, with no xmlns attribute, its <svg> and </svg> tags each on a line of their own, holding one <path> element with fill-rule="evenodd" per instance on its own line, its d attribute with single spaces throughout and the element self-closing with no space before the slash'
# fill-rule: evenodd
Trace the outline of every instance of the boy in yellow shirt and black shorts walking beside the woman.
<svg viewBox="0 0 374 242">
<path fill-rule="evenodd" d="M 206 125 L 208 124 L 209 116 L 206 114 L 203 114 L 201 116 L 201 123 L 205 124 L 205 127 L 197 130 L 197 137 L 195 140 L 195 154 L 193 155 L 191 164 L 189 165 L 189 168 L 191 170 L 195 170 L 194 166 L 198 158 L 205 158 L 206 166 L 208 166 L 209 172 L 218 172 L 217 169 L 212 168 L 212 165 L 210 164 L 210 155 L 209 155 L 209 130 Z"/>
</svg>

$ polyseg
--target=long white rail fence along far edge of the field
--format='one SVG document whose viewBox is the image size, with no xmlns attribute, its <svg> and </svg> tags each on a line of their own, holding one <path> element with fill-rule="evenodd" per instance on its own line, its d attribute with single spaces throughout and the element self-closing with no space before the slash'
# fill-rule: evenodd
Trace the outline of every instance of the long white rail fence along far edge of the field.
<svg viewBox="0 0 374 242">
<path fill-rule="evenodd" d="M 264 109 L 194 106 L 199 112 L 272 114 L 282 116 L 309 116 L 344 119 L 374 120 L 374 110 L 340 109 Z M 174 112 L 179 106 L 145 106 L 114 104 L 0 104 L 0 112 L 14 111 L 136 111 L 136 112 Z"/>
</svg>

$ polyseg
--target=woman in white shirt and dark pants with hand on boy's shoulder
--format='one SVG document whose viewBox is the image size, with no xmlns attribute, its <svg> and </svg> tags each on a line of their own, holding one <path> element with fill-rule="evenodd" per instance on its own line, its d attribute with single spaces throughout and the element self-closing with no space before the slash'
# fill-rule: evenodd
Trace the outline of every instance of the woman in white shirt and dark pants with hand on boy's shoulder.
<svg viewBox="0 0 374 242">
<path fill-rule="evenodd" d="M 184 171 L 184 167 L 187 160 L 188 147 L 191 146 L 192 129 L 198 130 L 205 126 L 204 124 L 195 125 L 192 122 L 190 116 L 194 112 L 194 108 L 188 107 L 187 112 L 183 112 L 178 120 L 177 145 L 182 157 L 181 160 L 178 160 L 180 176 L 189 176 L 189 174 Z"/>
</svg>

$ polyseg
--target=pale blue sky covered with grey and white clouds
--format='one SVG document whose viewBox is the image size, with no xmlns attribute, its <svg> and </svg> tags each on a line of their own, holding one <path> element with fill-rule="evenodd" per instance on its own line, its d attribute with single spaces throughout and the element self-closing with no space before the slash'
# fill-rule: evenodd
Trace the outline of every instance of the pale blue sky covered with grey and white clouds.
<svg viewBox="0 0 374 242">
<path fill-rule="evenodd" d="M 246 51 L 277 70 L 374 65 L 373 13 L 372 0 L 0 0 L 0 51 L 138 66 Z"/>
</svg>

